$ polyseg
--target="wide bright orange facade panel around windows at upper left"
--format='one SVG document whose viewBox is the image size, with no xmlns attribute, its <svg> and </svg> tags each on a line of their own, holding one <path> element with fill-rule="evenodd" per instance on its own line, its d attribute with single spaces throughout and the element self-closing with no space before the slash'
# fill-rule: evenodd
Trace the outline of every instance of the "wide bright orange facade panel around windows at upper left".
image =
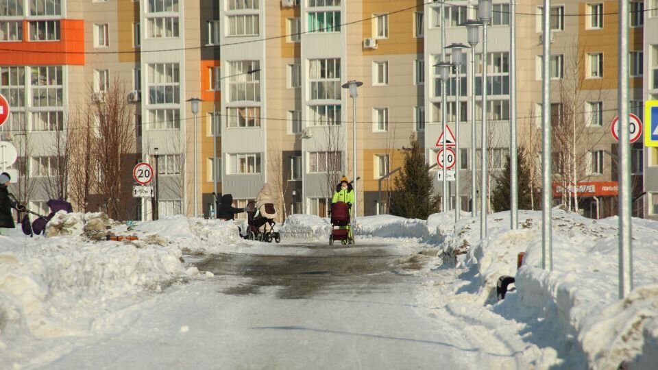
<svg viewBox="0 0 658 370">
<path fill-rule="evenodd" d="M 60 20 L 59 41 L 29 41 L 29 24 L 23 21 L 23 41 L 2 42 L 3 65 L 84 65 L 84 21 Z"/>
</svg>

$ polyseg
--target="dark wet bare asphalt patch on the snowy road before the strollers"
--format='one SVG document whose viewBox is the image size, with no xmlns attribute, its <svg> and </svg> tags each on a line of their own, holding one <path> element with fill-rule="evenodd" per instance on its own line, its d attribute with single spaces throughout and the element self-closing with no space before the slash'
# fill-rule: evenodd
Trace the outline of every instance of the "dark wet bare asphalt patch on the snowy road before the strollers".
<svg viewBox="0 0 658 370">
<path fill-rule="evenodd" d="M 272 247 L 287 252 L 218 254 L 195 265 L 200 271 L 235 280 L 236 284 L 222 289 L 224 294 L 254 295 L 276 287 L 277 298 L 300 299 L 343 292 L 384 293 L 420 269 L 425 257 L 377 243 L 331 247 L 272 243 Z"/>
</svg>

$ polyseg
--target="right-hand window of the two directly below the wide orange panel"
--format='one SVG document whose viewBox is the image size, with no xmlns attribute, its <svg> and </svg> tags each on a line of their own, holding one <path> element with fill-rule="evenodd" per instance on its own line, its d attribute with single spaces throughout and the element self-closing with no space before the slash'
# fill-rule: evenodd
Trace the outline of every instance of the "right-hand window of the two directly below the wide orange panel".
<svg viewBox="0 0 658 370">
<path fill-rule="evenodd" d="M 30 71 L 32 106 L 61 107 L 64 103 L 62 66 L 33 66 Z"/>
</svg>

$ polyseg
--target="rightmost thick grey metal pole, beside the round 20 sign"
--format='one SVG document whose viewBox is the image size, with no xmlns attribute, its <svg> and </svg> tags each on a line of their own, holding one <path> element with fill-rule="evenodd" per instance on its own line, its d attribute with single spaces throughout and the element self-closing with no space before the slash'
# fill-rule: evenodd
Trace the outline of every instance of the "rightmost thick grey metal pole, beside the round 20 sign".
<svg viewBox="0 0 658 370">
<path fill-rule="evenodd" d="M 631 147 L 629 144 L 629 2 L 619 0 L 619 299 L 633 290 L 631 250 Z"/>
</svg>

